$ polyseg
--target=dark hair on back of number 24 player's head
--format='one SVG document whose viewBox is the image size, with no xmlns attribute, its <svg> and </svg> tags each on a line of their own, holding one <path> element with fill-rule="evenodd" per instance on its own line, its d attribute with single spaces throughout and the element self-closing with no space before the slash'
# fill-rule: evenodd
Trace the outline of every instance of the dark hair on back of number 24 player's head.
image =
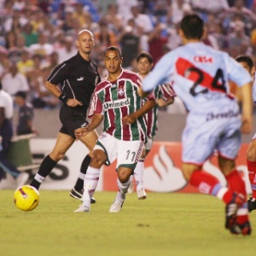
<svg viewBox="0 0 256 256">
<path fill-rule="evenodd" d="M 186 15 L 181 20 L 180 28 L 187 39 L 201 39 L 204 21 L 198 15 Z"/>
</svg>

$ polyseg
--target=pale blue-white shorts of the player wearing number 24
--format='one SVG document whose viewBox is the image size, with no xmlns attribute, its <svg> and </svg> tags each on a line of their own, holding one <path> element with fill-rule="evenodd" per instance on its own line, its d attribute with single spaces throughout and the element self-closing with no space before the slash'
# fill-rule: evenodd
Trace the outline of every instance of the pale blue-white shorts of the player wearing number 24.
<svg viewBox="0 0 256 256">
<path fill-rule="evenodd" d="M 215 150 L 235 160 L 241 146 L 241 116 L 236 110 L 222 111 L 210 119 L 207 113 L 189 113 L 183 130 L 183 162 L 202 165 Z"/>
</svg>

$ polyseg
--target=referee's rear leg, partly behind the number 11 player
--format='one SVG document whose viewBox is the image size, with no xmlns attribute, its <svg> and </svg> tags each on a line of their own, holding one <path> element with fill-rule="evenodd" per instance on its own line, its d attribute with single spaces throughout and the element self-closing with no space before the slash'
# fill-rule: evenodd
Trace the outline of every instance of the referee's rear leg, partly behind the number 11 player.
<svg viewBox="0 0 256 256">
<path fill-rule="evenodd" d="M 97 138 L 98 138 L 98 135 L 96 131 L 90 131 L 86 136 L 80 138 L 80 141 L 84 143 L 84 145 L 89 149 L 90 153 L 84 157 L 84 160 L 82 161 L 82 164 L 80 167 L 79 177 L 73 189 L 70 191 L 70 195 L 79 200 L 82 200 L 83 189 L 84 189 L 84 175 L 86 174 L 88 166 L 90 165 L 91 151 L 96 145 Z M 95 203 L 96 200 L 94 198 L 91 198 L 90 202 Z"/>
</svg>

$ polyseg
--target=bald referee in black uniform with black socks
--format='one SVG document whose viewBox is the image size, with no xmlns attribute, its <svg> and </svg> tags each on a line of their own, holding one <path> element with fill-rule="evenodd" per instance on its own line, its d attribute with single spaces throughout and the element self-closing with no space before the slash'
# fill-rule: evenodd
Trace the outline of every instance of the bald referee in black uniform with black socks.
<svg viewBox="0 0 256 256">
<path fill-rule="evenodd" d="M 56 66 L 45 83 L 45 87 L 64 104 L 61 106 L 61 130 L 58 133 L 55 147 L 47 155 L 38 173 L 30 183 L 39 189 L 44 178 L 49 175 L 59 160 L 61 160 L 76 140 L 74 131 L 88 125 L 86 120 L 87 108 L 90 105 L 96 84 L 101 81 L 96 63 L 90 59 L 90 52 L 94 46 L 93 34 L 89 30 L 82 30 L 76 41 L 79 52 L 67 61 Z M 58 88 L 61 84 L 61 90 Z M 90 131 L 79 140 L 91 151 L 96 144 L 96 131 Z M 90 154 L 84 157 L 79 178 L 70 195 L 81 199 L 83 195 L 84 174 L 90 164 Z M 92 202 L 95 202 L 92 199 Z"/>
</svg>

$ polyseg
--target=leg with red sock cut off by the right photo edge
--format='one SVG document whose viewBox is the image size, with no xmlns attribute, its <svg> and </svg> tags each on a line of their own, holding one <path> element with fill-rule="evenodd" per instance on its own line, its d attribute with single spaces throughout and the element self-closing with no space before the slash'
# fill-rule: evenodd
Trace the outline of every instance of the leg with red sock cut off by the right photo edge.
<svg viewBox="0 0 256 256">
<path fill-rule="evenodd" d="M 256 209 L 256 134 L 247 148 L 247 169 L 253 191 L 252 197 L 248 200 L 248 209 L 252 212 Z"/>
</svg>

